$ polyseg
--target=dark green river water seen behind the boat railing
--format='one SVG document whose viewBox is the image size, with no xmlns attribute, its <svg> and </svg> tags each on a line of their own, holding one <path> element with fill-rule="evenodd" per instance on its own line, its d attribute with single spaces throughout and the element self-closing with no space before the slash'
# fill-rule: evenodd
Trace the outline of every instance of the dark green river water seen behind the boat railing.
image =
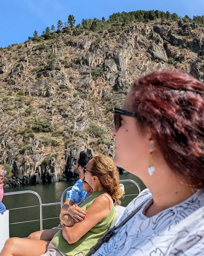
<svg viewBox="0 0 204 256">
<path fill-rule="evenodd" d="M 144 184 L 139 180 L 136 176 L 132 174 L 122 174 L 120 179 L 132 179 L 135 180 L 141 190 L 145 189 Z M 42 199 L 42 203 L 52 203 L 52 202 L 60 202 L 60 198 L 62 192 L 69 186 L 73 186 L 76 180 L 69 180 L 66 182 L 55 182 L 49 184 L 39 184 L 32 186 L 24 186 L 17 188 L 7 188 L 4 189 L 4 192 L 12 192 L 12 191 L 22 191 L 22 190 L 33 190 L 38 193 Z M 138 189 L 132 183 L 124 183 L 125 187 L 125 195 L 137 194 Z M 65 196 L 66 197 L 66 196 Z M 64 197 L 64 200 L 65 200 Z M 122 201 L 122 206 L 126 206 L 131 200 L 133 200 L 136 196 L 125 196 Z M 12 195 L 5 196 L 2 201 L 6 209 L 12 208 L 20 208 L 20 207 L 28 207 L 39 205 L 39 200 L 33 194 L 20 194 L 20 195 Z M 56 206 L 44 206 L 43 207 L 43 219 L 54 218 L 43 220 L 43 229 L 53 228 L 58 226 L 59 224 L 59 213 L 60 213 L 60 205 Z M 40 210 L 39 207 L 31 207 L 24 209 L 15 209 L 9 210 L 9 223 L 16 223 L 22 221 L 30 221 L 30 220 L 39 220 L 40 219 Z M 27 223 L 20 224 L 11 224 L 9 226 L 10 229 L 10 237 L 27 237 L 30 233 L 40 230 L 40 221 L 32 221 Z"/>
</svg>

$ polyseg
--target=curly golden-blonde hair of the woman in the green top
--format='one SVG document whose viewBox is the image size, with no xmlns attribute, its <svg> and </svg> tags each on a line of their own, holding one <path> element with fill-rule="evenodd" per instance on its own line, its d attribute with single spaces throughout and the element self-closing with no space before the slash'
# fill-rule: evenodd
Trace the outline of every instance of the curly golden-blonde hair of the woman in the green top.
<svg viewBox="0 0 204 256">
<path fill-rule="evenodd" d="M 91 160 L 91 171 L 98 177 L 103 188 L 111 195 L 115 202 L 120 205 L 120 197 L 124 191 L 119 185 L 119 171 L 113 161 L 107 156 L 95 156 Z"/>
</svg>

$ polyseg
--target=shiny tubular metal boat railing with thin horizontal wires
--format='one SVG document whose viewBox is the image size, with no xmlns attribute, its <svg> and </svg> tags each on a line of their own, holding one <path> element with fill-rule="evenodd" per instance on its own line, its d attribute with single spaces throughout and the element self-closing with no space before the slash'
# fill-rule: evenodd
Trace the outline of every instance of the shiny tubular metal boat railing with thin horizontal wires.
<svg viewBox="0 0 204 256">
<path fill-rule="evenodd" d="M 141 192 L 141 188 L 139 187 L 139 185 L 138 185 L 134 180 L 131 180 L 131 179 L 120 180 L 120 183 L 124 183 L 124 182 L 131 182 L 131 183 L 133 183 L 134 185 L 136 185 L 136 187 L 137 187 L 137 189 L 138 189 L 138 192 L 139 192 L 139 193 Z M 30 208 L 30 207 L 40 207 L 40 219 L 38 219 L 38 220 L 29 220 L 29 221 L 21 221 L 21 222 L 15 222 L 15 223 L 9 223 L 9 225 L 12 225 L 12 224 L 20 224 L 20 223 L 26 223 L 26 222 L 32 222 L 32 221 L 40 221 L 40 230 L 43 230 L 43 220 L 58 219 L 59 217 L 43 219 L 43 210 L 42 210 L 42 207 L 43 207 L 43 206 L 53 206 L 53 205 L 60 205 L 60 206 L 62 207 L 62 205 L 63 205 L 63 197 L 64 197 L 64 195 L 66 194 L 66 192 L 67 192 L 68 190 L 70 190 L 70 189 L 72 189 L 72 186 L 66 188 L 66 189 L 63 191 L 63 193 L 62 193 L 62 195 L 61 195 L 61 200 L 60 200 L 60 202 L 48 203 L 48 204 L 43 204 L 43 203 L 42 203 L 42 199 L 41 199 L 41 197 L 39 196 L 39 194 L 37 194 L 35 191 L 32 191 L 32 190 L 24 190 L 24 191 L 16 191 L 16 192 L 4 193 L 4 196 L 31 193 L 31 194 L 34 194 L 34 195 L 38 198 L 38 200 L 39 200 L 39 205 L 26 206 L 26 207 L 19 207 L 19 208 L 12 208 L 12 209 L 8 209 L 8 210 L 16 210 L 16 209 L 23 209 L 23 208 Z M 137 193 L 137 194 L 131 194 L 131 195 L 124 195 L 124 196 L 136 196 L 136 195 L 138 195 L 139 193 Z"/>
</svg>

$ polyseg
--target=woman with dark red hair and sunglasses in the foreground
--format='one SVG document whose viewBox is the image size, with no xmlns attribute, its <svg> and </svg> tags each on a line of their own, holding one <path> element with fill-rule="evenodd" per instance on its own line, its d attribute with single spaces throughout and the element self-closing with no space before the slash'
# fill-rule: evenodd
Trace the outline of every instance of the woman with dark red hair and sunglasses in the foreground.
<svg viewBox="0 0 204 256">
<path fill-rule="evenodd" d="M 174 70 L 140 77 L 114 111 L 112 135 L 114 164 L 148 189 L 118 225 L 133 217 L 91 253 L 204 255 L 204 85 Z"/>
</svg>

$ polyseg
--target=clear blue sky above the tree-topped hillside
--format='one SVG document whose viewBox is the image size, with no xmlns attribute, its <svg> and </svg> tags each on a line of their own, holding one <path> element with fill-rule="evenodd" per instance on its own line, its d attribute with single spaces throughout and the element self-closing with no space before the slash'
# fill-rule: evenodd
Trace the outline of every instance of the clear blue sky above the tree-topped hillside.
<svg viewBox="0 0 204 256">
<path fill-rule="evenodd" d="M 56 26 L 59 19 L 67 21 L 73 14 L 76 24 L 82 18 L 108 19 L 122 11 L 161 10 L 177 13 L 204 15 L 204 0 L 2 0 L 0 9 L 0 47 L 26 41 L 34 30 L 41 35 L 47 26 Z"/>
</svg>

